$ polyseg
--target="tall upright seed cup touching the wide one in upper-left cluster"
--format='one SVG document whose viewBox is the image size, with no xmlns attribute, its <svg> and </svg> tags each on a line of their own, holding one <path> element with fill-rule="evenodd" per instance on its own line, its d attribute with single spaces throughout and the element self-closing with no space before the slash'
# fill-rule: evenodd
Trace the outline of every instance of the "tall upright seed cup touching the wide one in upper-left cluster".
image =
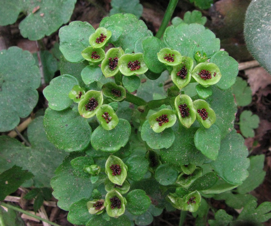
<svg viewBox="0 0 271 226">
<path fill-rule="evenodd" d="M 111 48 L 106 54 L 101 64 L 101 70 L 104 76 L 111 77 L 119 72 L 119 58 L 124 54 L 124 51 L 119 48 Z"/>
</svg>

